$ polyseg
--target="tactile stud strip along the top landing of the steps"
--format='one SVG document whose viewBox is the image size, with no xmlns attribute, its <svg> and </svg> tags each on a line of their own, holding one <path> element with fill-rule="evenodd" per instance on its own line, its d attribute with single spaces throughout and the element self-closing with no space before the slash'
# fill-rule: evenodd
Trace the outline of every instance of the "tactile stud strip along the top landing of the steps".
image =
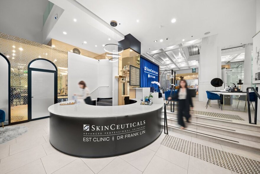
<svg viewBox="0 0 260 174">
<path fill-rule="evenodd" d="M 166 107 L 166 110 L 170 111 L 170 106 Z M 174 108 L 174 112 L 178 112 L 178 108 Z M 205 115 L 205 116 L 213 116 L 218 118 L 226 118 L 226 119 L 233 119 L 233 120 L 243 120 L 238 115 L 231 115 L 231 114 L 221 114 L 221 113 L 215 113 L 215 112 L 206 112 L 206 111 L 194 111 L 193 114 L 196 115 Z"/>
</svg>

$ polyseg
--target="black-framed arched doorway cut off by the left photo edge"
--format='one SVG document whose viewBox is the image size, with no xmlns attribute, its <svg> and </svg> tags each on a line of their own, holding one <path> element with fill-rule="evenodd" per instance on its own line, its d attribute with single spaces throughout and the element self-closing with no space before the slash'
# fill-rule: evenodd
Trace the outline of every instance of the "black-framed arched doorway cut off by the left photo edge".
<svg viewBox="0 0 260 174">
<path fill-rule="evenodd" d="M 0 109 L 5 111 L 4 125 L 10 125 L 10 62 L 0 53 Z"/>
</svg>

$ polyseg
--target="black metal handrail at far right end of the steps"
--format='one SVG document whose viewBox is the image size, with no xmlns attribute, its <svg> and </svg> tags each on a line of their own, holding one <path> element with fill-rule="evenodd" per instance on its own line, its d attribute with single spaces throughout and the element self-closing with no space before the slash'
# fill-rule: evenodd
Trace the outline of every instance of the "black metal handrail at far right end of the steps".
<svg viewBox="0 0 260 174">
<path fill-rule="evenodd" d="M 256 101 L 255 101 L 255 116 L 254 116 L 254 122 L 252 123 L 251 121 L 251 111 L 250 111 L 250 98 L 249 98 L 249 89 L 251 89 L 251 91 L 254 91 L 255 95 L 256 95 Z M 248 121 L 249 124 L 256 124 L 257 121 L 257 100 L 258 98 L 260 99 L 260 95 L 258 93 L 258 87 L 254 88 L 254 87 L 248 87 L 246 88 L 246 96 L 247 96 L 247 107 L 248 107 Z M 257 98 L 258 97 L 258 98 Z M 253 106 L 253 104 L 252 104 Z"/>
</svg>

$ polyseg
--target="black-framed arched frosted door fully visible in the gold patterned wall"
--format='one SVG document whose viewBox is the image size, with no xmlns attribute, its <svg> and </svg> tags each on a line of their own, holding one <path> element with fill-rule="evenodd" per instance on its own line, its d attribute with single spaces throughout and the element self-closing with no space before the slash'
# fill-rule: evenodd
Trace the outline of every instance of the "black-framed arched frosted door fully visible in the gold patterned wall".
<svg viewBox="0 0 260 174">
<path fill-rule="evenodd" d="M 57 67 L 50 60 L 34 59 L 28 65 L 28 120 L 49 117 L 48 107 L 57 103 Z"/>
</svg>

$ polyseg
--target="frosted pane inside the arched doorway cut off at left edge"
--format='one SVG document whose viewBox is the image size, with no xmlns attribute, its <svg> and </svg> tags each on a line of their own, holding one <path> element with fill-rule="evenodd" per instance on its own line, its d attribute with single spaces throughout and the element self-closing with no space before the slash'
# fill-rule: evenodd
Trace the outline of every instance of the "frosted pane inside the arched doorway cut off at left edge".
<svg viewBox="0 0 260 174">
<path fill-rule="evenodd" d="M 0 55 L 0 109 L 5 111 L 5 124 L 8 124 L 8 63 Z"/>
</svg>

